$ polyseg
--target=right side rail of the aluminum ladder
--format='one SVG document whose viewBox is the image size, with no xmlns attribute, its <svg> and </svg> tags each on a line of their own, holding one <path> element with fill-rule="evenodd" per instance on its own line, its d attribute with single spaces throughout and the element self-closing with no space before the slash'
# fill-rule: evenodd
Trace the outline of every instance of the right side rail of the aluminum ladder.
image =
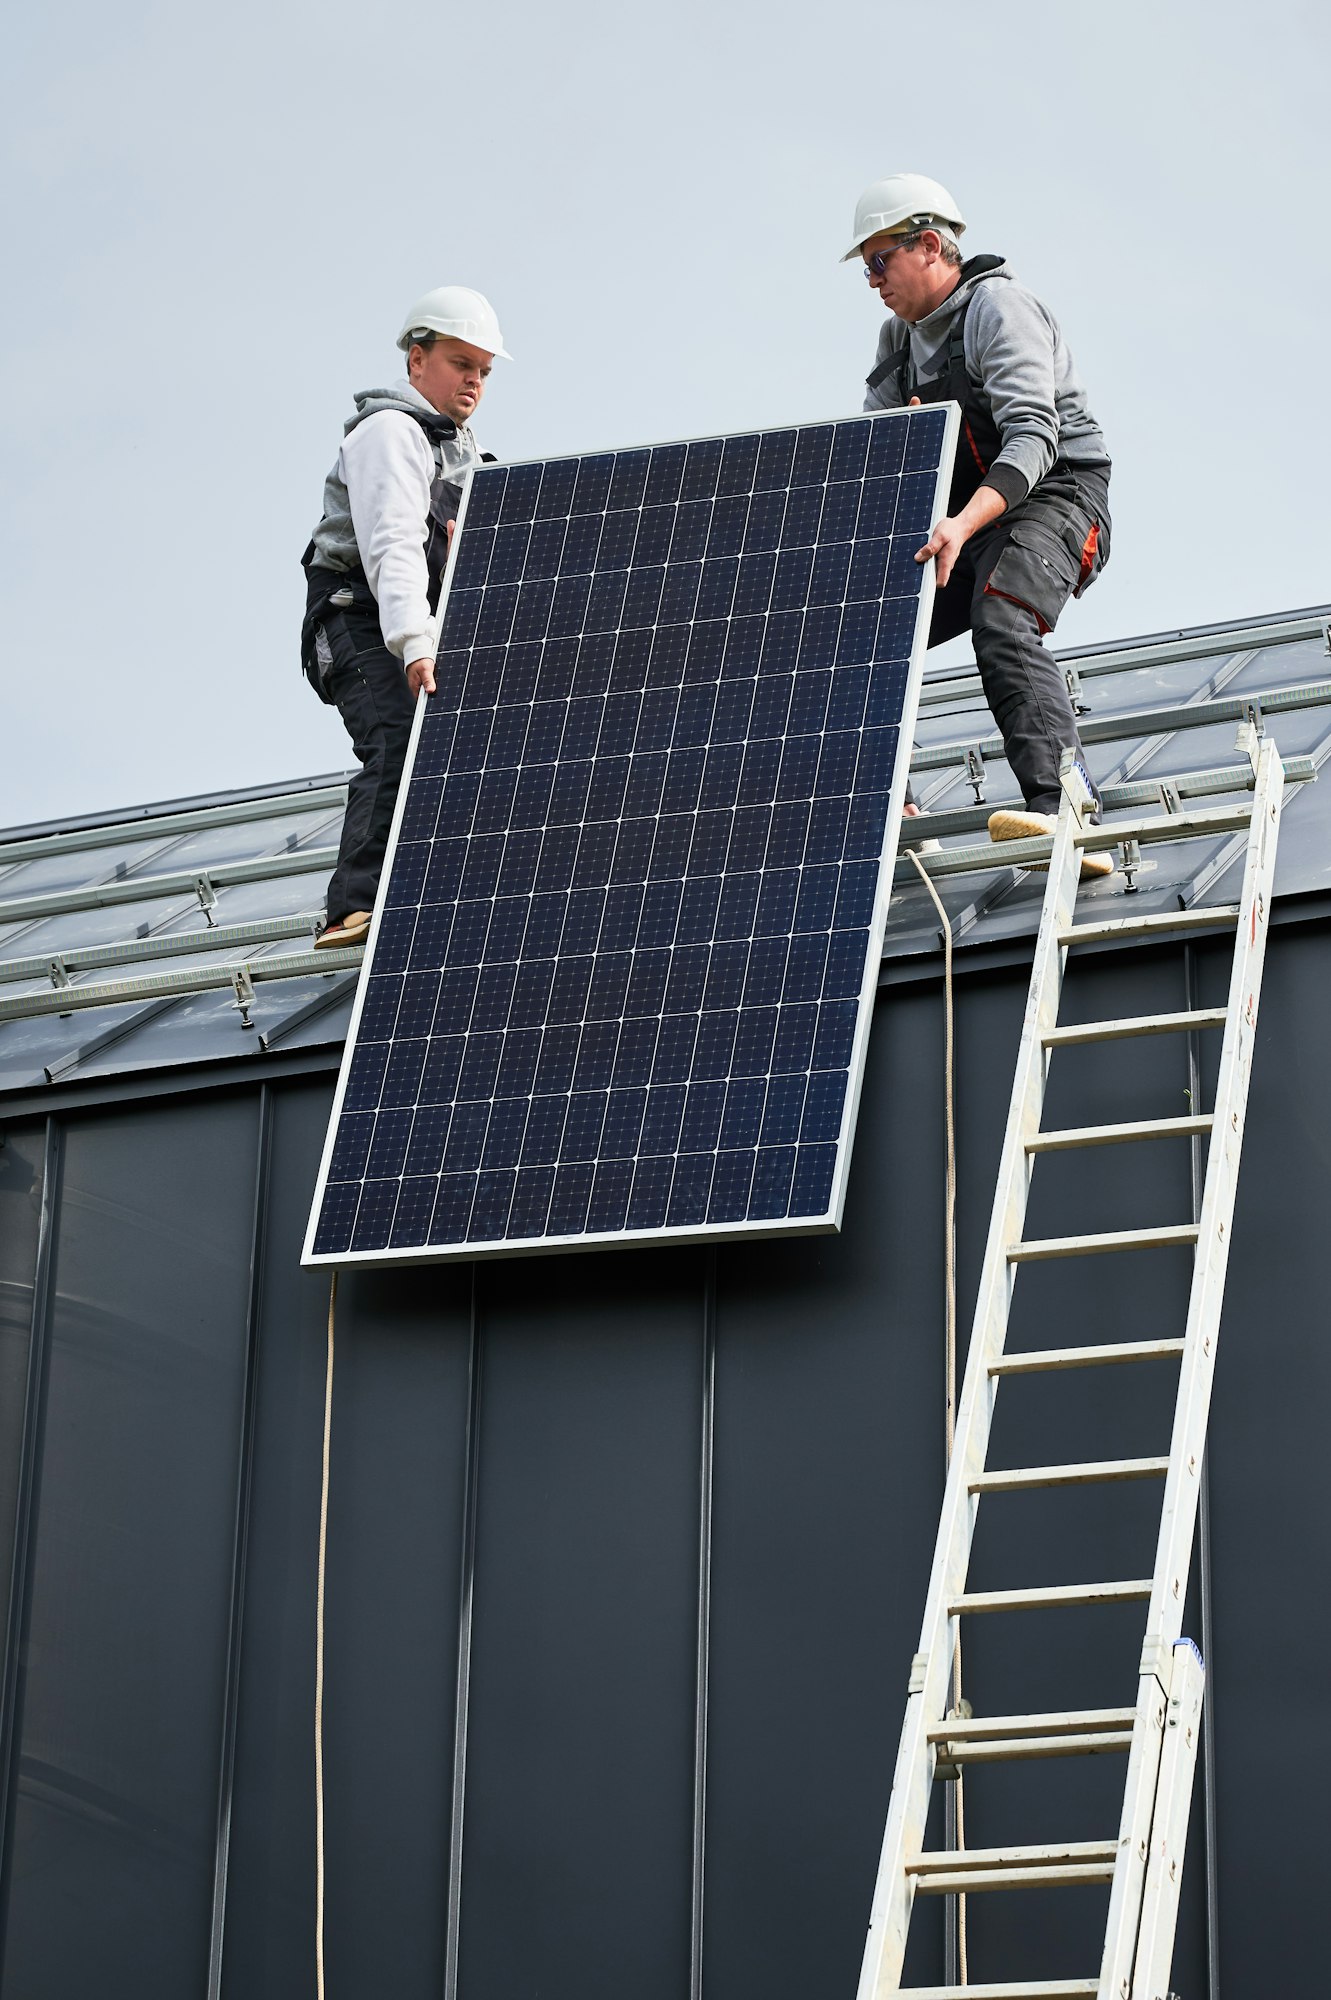
<svg viewBox="0 0 1331 2000">
<path fill-rule="evenodd" d="M 1171 1654 L 1183 1626 L 1183 1592 L 1187 1588 L 1197 1522 L 1199 1474 L 1207 1440 L 1219 1316 L 1225 1296 L 1225 1268 L 1229 1262 L 1247 1084 L 1257 1030 L 1257 1000 L 1265 962 L 1283 786 L 1285 772 L 1275 744 L 1263 738 L 1257 752 L 1253 822 L 1243 868 L 1239 930 L 1215 1088 L 1215 1124 L 1207 1152 L 1197 1252 L 1183 1332 L 1179 1396 L 1169 1442 L 1169 1474 L 1165 1478 L 1151 1602 L 1141 1648 L 1139 1718 L 1169 1690 L 1173 1674 Z M 1159 1734 L 1155 1732 L 1153 1738 L 1147 1738 L 1139 1726 L 1133 1732 L 1133 1748 L 1127 1764 L 1123 1820 L 1119 1824 L 1119 1862 L 1109 1894 L 1105 1956 L 1099 1972 L 1101 2000 L 1127 2000 L 1131 1992 L 1133 1956 L 1145 1892 L 1145 1862 L 1155 1810 L 1151 1770 L 1159 1764 Z"/>
</svg>

